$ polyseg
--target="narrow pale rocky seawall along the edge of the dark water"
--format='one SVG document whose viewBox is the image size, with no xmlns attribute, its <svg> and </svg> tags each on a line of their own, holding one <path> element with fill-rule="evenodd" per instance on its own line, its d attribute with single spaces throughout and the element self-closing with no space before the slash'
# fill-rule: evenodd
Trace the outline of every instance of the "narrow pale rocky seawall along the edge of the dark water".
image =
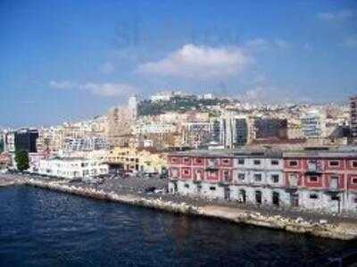
<svg viewBox="0 0 357 267">
<path fill-rule="evenodd" d="M 336 238 L 341 240 L 351 240 L 357 238 L 357 221 L 356 223 L 340 222 L 338 224 L 328 223 L 327 221 L 311 223 L 310 221 L 304 221 L 303 218 L 297 218 L 294 220 L 279 215 L 268 216 L 257 212 L 220 205 L 194 206 L 187 203 L 163 201 L 160 198 L 153 199 L 131 194 L 122 195 L 115 192 L 106 192 L 95 188 L 76 187 L 53 181 L 47 182 L 28 179 L 25 181 L 25 184 L 28 186 L 47 188 L 94 199 L 154 208 L 170 213 L 195 214 L 225 221 L 267 227 L 270 229 L 281 229 L 299 234 L 310 234 L 322 238 Z"/>
</svg>

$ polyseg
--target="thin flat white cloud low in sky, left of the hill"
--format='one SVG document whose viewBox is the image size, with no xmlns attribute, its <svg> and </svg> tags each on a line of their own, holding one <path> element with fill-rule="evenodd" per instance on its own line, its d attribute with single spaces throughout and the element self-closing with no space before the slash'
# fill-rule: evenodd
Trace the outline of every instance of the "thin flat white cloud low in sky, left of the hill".
<svg viewBox="0 0 357 267">
<path fill-rule="evenodd" d="M 96 96 L 127 96 L 137 90 L 135 87 L 126 83 L 76 83 L 68 80 L 51 80 L 49 85 L 55 89 L 84 90 Z"/>
</svg>

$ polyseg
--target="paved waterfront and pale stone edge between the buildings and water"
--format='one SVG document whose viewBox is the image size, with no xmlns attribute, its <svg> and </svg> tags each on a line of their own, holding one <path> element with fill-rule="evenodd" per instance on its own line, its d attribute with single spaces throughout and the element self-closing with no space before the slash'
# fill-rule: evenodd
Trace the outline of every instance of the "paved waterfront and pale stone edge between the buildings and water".
<svg viewBox="0 0 357 267">
<path fill-rule="evenodd" d="M 173 213 L 185 213 L 221 220 L 246 223 L 271 229 L 311 234 L 324 238 L 357 238 L 355 214 L 308 213 L 283 208 L 265 208 L 202 198 L 145 192 L 146 188 L 165 189 L 166 179 L 104 179 L 102 183 L 69 182 L 62 179 L 43 179 L 2 174 L 0 184 L 47 188 L 95 199 L 135 204 Z"/>
</svg>

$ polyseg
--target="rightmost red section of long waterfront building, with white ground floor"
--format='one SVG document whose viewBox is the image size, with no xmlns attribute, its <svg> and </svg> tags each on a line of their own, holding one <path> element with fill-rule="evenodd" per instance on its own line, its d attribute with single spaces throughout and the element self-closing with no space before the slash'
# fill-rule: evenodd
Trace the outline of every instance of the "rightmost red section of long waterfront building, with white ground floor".
<svg viewBox="0 0 357 267">
<path fill-rule="evenodd" d="M 291 204 L 340 213 L 357 211 L 357 153 L 304 151 L 284 154 Z"/>
</svg>

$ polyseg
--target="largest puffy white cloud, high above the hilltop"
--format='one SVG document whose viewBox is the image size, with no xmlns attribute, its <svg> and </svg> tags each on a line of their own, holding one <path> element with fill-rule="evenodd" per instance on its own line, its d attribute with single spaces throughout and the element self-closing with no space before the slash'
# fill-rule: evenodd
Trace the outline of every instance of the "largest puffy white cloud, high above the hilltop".
<svg viewBox="0 0 357 267">
<path fill-rule="evenodd" d="M 214 79 L 237 75 L 252 62 L 251 56 L 238 47 L 186 45 L 158 62 L 141 64 L 138 71 L 160 76 Z"/>
</svg>

